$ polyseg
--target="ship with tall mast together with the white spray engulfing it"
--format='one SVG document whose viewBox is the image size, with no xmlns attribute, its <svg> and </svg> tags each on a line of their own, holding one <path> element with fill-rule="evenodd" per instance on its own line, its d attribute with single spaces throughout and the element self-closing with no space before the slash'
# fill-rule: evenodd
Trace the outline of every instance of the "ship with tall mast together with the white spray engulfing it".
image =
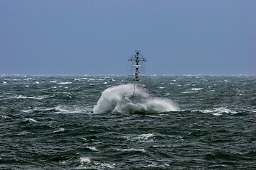
<svg viewBox="0 0 256 170">
<path fill-rule="evenodd" d="M 150 114 L 178 111 L 178 106 L 176 107 L 168 98 L 151 96 L 147 84 L 142 83 L 142 66 L 146 62 L 146 57 L 139 50 L 135 52 L 128 59 L 134 69 L 132 81 L 105 89 L 93 107 L 93 113 Z"/>
</svg>

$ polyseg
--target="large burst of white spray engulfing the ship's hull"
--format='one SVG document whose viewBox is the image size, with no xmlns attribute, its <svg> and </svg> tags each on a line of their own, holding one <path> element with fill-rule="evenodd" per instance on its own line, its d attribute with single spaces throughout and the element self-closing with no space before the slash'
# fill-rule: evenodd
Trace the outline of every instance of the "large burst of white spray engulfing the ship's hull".
<svg viewBox="0 0 256 170">
<path fill-rule="evenodd" d="M 163 113 L 178 111 L 178 106 L 168 98 L 149 97 L 142 88 L 135 88 L 134 84 L 113 86 L 102 92 L 93 113 Z"/>
</svg>

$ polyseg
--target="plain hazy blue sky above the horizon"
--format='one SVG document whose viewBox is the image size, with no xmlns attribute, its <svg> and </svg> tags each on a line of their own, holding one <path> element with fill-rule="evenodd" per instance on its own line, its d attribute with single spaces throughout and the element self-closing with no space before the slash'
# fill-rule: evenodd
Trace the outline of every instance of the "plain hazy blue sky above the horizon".
<svg viewBox="0 0 256 170">
<path fill-rule="evenodd" d="M 0 0 L 0 74 L 256 75 L 256 0 Z"/>
</svg>

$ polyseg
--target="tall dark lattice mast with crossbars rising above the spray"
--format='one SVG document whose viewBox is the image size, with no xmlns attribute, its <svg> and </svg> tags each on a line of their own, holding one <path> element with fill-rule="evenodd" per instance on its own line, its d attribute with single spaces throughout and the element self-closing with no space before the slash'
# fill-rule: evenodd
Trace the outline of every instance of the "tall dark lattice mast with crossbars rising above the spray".
<svg viewBox="0 0 256 170">
<path fill-rule="evenodd" d="M 139 50 L 136 50 L 135 51 L 136 54 L 135 55 L 132 55 L 131 59 L 129 59 L 129 61 L 132 61 L 134 62 L 134 67 L 135 67 L 135 73 L 134 73 L 134 92 L 133 92 L 133 96 L 135 96 L 135 86 L 136 84 L 138 84 L 139 82 L 139 67 L 141 66 L 140 65 L 140 62 L 146 62 L 146 58 L 142 57 L 142 54 L 140 54 L 140 51 Z"/>
</svg>

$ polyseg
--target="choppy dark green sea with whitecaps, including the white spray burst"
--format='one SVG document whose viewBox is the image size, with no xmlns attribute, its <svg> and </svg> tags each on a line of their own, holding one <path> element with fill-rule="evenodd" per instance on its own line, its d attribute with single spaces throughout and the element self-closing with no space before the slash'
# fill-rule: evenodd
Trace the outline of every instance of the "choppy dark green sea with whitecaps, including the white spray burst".
<svg viewBox="0 0 256 170">
<path fill-rule="evenodd" d="M 255 76 L 147 78 L 0 75 L 0 169 L 256 169 Z"/>
</svg>

